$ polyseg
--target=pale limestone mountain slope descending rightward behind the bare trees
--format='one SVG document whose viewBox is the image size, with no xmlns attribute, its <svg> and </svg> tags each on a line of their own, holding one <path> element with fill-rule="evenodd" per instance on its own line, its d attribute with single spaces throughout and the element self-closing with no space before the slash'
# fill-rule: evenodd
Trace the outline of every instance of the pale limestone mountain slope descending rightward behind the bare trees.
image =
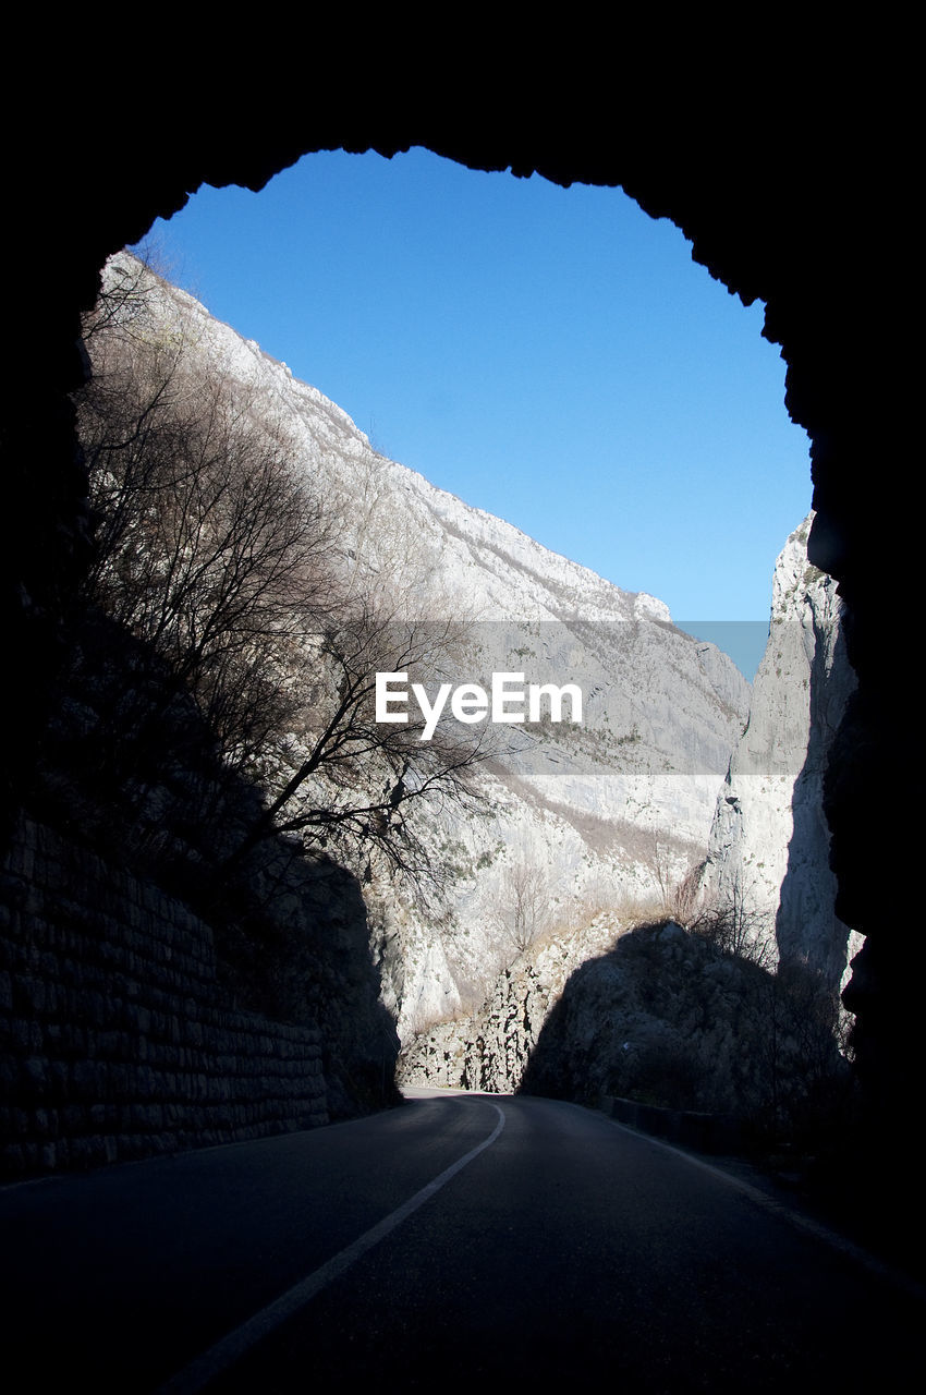
<svg viewBox="0 0 926 1395">
<path fill-rule="evenodd" d="M 126 275 L 126 254 L 109 278 Z M 510 523 L 372 449 L 350 417 L 191 296 L 156 282 L 149 312 L 286 435 L 336 520 L 344 586 L 389 614 L 463 625 L 459 679 L 572 682 L 583 723 L 515 731 L 478 774 L 481 809 L 423 817 L 452 872 L 441 914 L 367 886 L 384 1000 L 403 1039 L 483 1000 L 533 939 L 658 898 L 703 861 L 717 790 L 746 720 L 734 663 L 667 607 L 558 557 Z"/>
</svg>

